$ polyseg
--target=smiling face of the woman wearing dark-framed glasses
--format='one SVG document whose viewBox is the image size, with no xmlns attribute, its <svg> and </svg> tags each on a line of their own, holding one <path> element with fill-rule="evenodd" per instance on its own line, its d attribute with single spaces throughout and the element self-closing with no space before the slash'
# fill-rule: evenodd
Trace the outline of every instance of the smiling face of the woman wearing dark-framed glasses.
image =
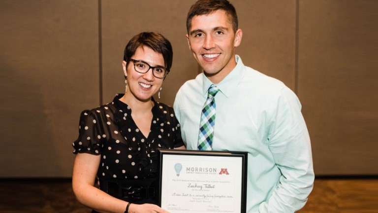
<svg viewBox="0 0 378 213">
<path fill-rule="evenodd" d="M 138 47 L 131 58 L 144 61 L 152 67 L 165 67 L 163 55 L 146 46 Z M 163 79 L 155 77 L 152 69 L 146 73 L 135 71 L 132 61 L 128 63 L 127 67 L 126 62 L 123 61 L 122 66 L 127 76 L 127 92 L 125 95 L 142 102 L 150 101 L 151 97 L 160 89 Z"/>
</svg>

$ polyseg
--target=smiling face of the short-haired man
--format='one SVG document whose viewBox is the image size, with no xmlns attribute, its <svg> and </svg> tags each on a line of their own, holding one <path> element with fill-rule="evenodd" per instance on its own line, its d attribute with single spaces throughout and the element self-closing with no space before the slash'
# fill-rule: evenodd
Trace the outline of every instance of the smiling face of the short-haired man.
<svg viewBox="0 0 378 213">
<path fill-rule="evenodd" d="M 235 47 L 241 38 L 242 31 L 232 30 L 224 10 L 194 16 L 187 35 L 195 60 L 213 83 L 219 83 L 235 68 Z"/>
</svg>

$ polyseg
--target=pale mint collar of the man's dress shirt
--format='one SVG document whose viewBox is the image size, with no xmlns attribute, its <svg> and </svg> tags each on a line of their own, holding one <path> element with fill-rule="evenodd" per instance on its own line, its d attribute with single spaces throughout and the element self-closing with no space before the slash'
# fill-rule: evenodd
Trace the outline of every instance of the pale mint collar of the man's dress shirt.
<svg viewBox="0 0 378 213">
<path fill-rule="evenodd" d="M 229 97 L 231 95 L 231 93 L 234 91 L 234 89 L 244 76 L 244 64 L 242 62 L 242 59 L 240 58 L 240 56 L 235 55 L 235 60 L 236 67 L 221 82 L 215 84 L 219 88 L 220 92 L 223 93 L 226 97 Z M 202 94 L 203 96 L 207 97 L 207 91 L 213 84 L 213 82 L 211 82 L 205 74 L 202 73 L 202 75 Z"/>
</svg>

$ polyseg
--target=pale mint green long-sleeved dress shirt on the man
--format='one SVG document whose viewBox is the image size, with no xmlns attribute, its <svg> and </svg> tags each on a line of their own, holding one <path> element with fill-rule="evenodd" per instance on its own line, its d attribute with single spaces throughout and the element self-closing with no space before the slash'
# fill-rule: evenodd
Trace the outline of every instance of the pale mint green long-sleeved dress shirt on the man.
<svg viewBox="0 0 378 213">
<path fill-rule="evenodd" d="M 308 130 L 297 96 L 282 83 L 244 66 L 215 96 L 213 150 L 247 151 L 247 213 L 293 213 L 314 184 Z M 174 109 L 187 149 L 197 149 L 201 110 L 212 82 L 203 74 L 177 92 Z"/>
</svg>

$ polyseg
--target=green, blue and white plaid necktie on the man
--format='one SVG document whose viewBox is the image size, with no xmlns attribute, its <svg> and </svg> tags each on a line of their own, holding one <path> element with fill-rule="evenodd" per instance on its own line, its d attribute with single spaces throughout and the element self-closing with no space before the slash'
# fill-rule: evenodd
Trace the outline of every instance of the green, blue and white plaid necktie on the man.
<svg viewBox="0 0 378 213">
<path fill-rule="evenodd" d="M 198 134 L 198 150 L 211 150 L 213 143 L 214 122 L 215 122 L 215 99 L 214 96 L 219 89 L 212 84 L 207 93 L 207 100 L 201 113 Z"/>
</svg>

